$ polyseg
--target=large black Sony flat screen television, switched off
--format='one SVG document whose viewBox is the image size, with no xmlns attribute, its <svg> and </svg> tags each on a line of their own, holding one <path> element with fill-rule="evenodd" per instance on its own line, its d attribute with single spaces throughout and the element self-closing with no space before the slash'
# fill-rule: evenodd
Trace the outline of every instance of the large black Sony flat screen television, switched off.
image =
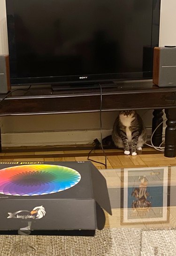
<svg viewBox="0 0 176 256">
<path fill-rule="evenodd" d="M 11 85 L 151 79 L 160 1 L 6 0 Z"/>
</svg>

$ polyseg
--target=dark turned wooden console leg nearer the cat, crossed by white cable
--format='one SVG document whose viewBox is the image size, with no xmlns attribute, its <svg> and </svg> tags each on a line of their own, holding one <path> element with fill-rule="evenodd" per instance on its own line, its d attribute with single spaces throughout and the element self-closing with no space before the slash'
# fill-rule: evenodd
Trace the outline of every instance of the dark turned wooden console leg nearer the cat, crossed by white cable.
<svg viewBox="0 0 176 256">
<path fill-rule="evenodd" d="M 154 132 L 155 128 L 161 124 L 163 121 L 163 111 L 162 109 L 155 109 L 153 111 L 153 120 L 152 120 L 152 132 Z M 153 145 L 156 147 L 159 147 L 161 142 L 162 142 L 162 129 L 163 129 L 163 124 L 161 124 L 156 132 L 153 134 L 152 142 Z"/>
</svg>

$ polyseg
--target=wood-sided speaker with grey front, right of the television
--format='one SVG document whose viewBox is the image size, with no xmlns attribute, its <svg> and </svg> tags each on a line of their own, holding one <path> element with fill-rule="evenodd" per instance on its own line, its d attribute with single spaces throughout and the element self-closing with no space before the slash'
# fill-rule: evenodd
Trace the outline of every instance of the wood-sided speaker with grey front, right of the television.
<svg viewBox="0 0 176 256">
<path fill-rule="evenodd" d="M 176 86 L 176 46 L 154 48 L 153 83 L 160 87 Z"/>
</svg>

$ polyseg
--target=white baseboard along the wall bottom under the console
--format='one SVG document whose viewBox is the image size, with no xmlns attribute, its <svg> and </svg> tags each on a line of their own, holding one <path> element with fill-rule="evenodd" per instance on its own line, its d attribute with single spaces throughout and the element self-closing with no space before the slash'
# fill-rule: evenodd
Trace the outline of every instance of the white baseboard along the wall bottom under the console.
<svg viewBox="0 0 176 256">
<path fill-rule="evenodd" d="M 105 138 L 112 130 L 102 130 Z M 148 138 L 152 135 L 152 128 L 147 128 Z M 163 128 L 163 138 L 165 128 Z M 49 145 L 77 145 L 92 143 L 95 139 L 100 140 L 99 130 L 61 131 L 61 132 L 19 132 L 2 133 L 2 147 L 23 147 L 23 146 L 49 146 Z"/>
</svg>

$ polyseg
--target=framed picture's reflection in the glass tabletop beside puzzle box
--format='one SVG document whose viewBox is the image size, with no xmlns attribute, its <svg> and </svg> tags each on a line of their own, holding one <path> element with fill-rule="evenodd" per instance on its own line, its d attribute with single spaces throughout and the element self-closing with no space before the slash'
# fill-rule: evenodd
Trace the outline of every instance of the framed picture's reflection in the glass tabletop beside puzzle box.
<svg viewBox="0 0 176 256">
<path fill-rule="evenodd" d="M 168 172 L 168 167 L 123 170 L 121 224 L 169 221 Z"/>
</svg>

